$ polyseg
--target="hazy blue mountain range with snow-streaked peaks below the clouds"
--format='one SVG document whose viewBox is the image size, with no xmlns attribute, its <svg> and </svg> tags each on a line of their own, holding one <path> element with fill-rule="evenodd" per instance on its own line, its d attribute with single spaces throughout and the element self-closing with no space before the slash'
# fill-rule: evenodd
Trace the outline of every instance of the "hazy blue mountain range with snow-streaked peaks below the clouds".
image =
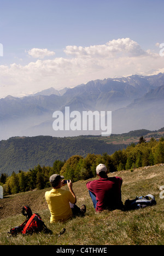
<svg viewBox="0 0 164 256">
<path fill-rule="evenodd" d="M 100 135 L 100 130 L 52 129 L 53 113 L 112 111 L 112 133 L 158 130 L 164 126 L 164 74 L 108 78 L 74 88 L 54 88 L 26 97 L 0 99 L 0 140 L 14 136 Z"/>
</svg>

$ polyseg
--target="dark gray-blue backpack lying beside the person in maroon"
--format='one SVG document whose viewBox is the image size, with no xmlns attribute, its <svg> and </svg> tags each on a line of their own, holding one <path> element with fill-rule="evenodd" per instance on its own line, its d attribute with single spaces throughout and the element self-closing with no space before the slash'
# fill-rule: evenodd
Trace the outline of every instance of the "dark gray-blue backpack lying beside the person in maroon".
<svg viewBox="0 0 164 256">
<path fill-rule="evenodd" d="M 151 194 L 146 196 L 137 196 L 133 200 L 127 199 L 125 201 L 125 211 L 145 208 L 147 206 L 156 205 L 155 197 Z"/>
</svg>

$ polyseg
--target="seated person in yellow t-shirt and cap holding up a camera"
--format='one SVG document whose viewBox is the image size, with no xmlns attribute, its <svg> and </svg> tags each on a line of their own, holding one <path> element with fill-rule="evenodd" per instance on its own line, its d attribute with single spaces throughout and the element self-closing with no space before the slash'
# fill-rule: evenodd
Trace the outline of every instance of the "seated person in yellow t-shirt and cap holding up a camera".
<svg viewBox="0 0 164 256">
<path fill-rule="evenodd" d="M 51 213 L 51 223 L 64 221 L 72 216 L 84 216 L 86 212 L 85 205 L 81 206 L 81 208 L 75 205 L 77 197 L 72 189 L 73 184 L 71 180 L 67 181 L 69 191 L 62 189 L 62 187 L 66 185 L 64 181 L 63 176 L 53 174 L 50 177 L 52 189 L 45 192 L 45 199 Z"/>
</svg>

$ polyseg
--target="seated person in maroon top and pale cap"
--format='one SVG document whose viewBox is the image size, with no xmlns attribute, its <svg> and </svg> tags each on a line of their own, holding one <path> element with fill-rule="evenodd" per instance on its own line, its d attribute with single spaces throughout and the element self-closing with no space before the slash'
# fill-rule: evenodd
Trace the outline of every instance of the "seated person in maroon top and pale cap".
<svg viewBox="0 0 164 256">
<path fill-rule="evenodd" d="M 89 190 L 93 202 L 93 207 L 97 212 L 115 209 L 122 210 L 122 178 L 108 177 L 107 167 L 104 164 L 99 164 L 96 167 L 96 173 L 99 176 L 99 179 L 86 183 L 86 187 Z"/>
</svg>

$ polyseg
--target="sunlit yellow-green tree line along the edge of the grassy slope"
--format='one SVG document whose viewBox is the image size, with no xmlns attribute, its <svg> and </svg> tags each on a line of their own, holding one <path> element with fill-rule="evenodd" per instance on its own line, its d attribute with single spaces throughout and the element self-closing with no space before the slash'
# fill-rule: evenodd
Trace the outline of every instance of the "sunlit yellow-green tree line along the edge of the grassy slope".
<svg viewBox="0 0 164 256">
<path fill-rule="evenodd" d="M 15 194 L 32 189 L 50 187 L 49 177 L 53 173 L 61 174 L 65 179 L 77 182 L 96 177 L 96 166 L 105 164 L 109 172 L 131 170 L 143 166 L 153 166 L 164 163 L 164 138 L 157 141 L 151 138 L 149 142 L 140 137 L 137 144 L 132 143 L 126 149 L 116 150 L 113 154 L 72 155 L 67 161 L 56 160 L 52 166 L 40 165 L 28 172 L 13 172 L 10 177 L 1 174 L 0 185 L 3 185 L 4 195 Z"/>
</svg>

